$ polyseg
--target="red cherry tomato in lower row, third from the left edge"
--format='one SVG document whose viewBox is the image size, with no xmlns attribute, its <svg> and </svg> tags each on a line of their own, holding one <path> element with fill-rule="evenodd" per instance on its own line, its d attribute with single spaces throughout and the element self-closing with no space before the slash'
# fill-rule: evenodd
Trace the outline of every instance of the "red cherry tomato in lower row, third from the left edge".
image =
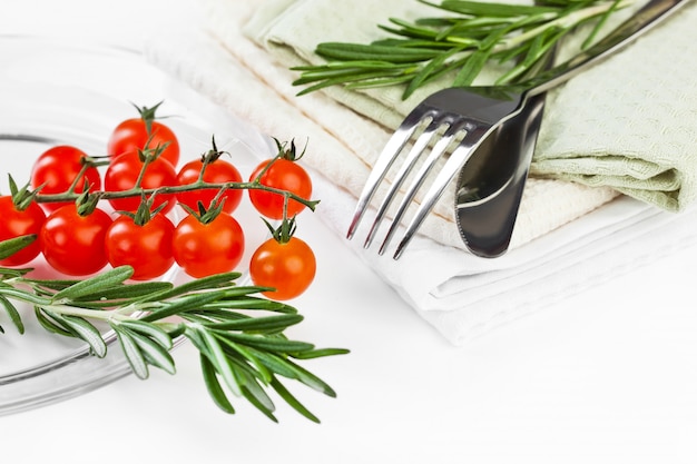
<svg viewBox="0 0 697 464">
<path fill-rule="evenodd" d="M 120 216 L 107 229 L 105 246 L 114 267 L 131 266 L 135 280 L 148 280 L 165 274 L 174 265 L 171 239 L 175 226 L 161 214 L 144 225 Z"/>
</svg>

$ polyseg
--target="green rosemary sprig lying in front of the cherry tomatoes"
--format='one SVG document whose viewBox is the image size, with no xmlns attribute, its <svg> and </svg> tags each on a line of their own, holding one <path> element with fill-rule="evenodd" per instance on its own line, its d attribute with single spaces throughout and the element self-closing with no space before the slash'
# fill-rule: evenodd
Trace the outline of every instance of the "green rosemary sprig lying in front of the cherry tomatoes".
<svg viewBox="0 0 697 464">
<path fill-rule="evenodd" d="M 0 254 L 16 247 L 17 243 L 0 243 Z M 132 284 L 128 282 L 131 274 L 132 269 L 125 266 L 86 280 L 41 280 L 29 277 L 27 269 L 0 268 L 0 308 L 23 333 L 16 303 L 27 303 L 43 328 L 84 340 L 98 357 L 107 354 L 106 332 L 98 329 L 98 323 L 106 324 L 116 333 L 139 378 L 147 378 L 150 367 L 174 374 L 170 351 L 175 338 L 185 337 L 199 352 L 203 377 L 213 401 L 230 414 L 235 413 L 232 397 L 236 396 L 277 421 L 267 393 L 271 389 L 300 414 L 318 422 L 282 379 L 336 396 L 328 384 L 298 362 L 348 352 L 317 349 L 310 343 L 288 338 L 284 330 L 303 320 L 303 316 L 292 306 L 256 296 L 267 288 L 237 286 L 238 273 L 178 286 L 166 282 Z"/>
</svg>

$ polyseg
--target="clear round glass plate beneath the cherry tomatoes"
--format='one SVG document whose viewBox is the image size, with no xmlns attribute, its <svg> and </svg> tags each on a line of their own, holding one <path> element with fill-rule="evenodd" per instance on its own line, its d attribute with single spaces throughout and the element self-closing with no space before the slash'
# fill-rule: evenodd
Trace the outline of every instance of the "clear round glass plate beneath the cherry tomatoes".
<svg viewBox="0 0 697 464">
<path fill-rule="evenodd" d="M 75 145 L 90 155 L 105 154 L 107 137 L 116 125 L 137 116 L 134 103 L 164 101 L 158 115 L 168 116 L 166 124 L 179 138 L 181 162 L 210 148 L 215 125 L 225 130 L 215 132 L 218 148 L 230 152 L 243 177 L 258 162 L 254 152 L 272 152 L 267 137 L 216 112 L 214 103 L 130 50 L 0 36 L 0 191 L 4 195 L 9 192 L 7 174 L 23 185 L 33 160 L 51 146 Z M 208 122 L 212 120 L 216 122 Z M 244 274 L 255 244 L 267 237 L 267 231 L 246 197 L 235 217 L 245 230 L 246 254 L 236 269 Z M 41 258 L 28 266 L 42 278 L 53 273 Z M 176 282 L 186 277 L 174 268 L 165 278 Z M 90 356 L 80 340 L 43 330 L 30 307 L 19 309 L 27 326 L 23 335 L 0 310 L 0 325 L 6 328 L 0 334 L 0 415 L 73 397 L 130 373 L 110 330 L 105 330 L 108 355 L 100 359 Z"/>
</svg>

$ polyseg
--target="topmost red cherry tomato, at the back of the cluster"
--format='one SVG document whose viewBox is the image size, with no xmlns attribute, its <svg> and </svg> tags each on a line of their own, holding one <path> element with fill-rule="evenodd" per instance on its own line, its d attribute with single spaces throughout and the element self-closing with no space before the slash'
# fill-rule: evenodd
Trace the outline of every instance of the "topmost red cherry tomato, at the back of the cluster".
<svg viewBox="0 0 697 464">
<path fill-rule="evenodd" d="M 107 142 L 107 152 L 112 157 L 117 157 L 127 151 L 146 148 L 156 148 L 157 146 L 167 147 L 163 150 L 160 157 L 177 166 L 179 162 L 179 140 L 174 131 L 161 122 L 151 121 L 151 131 L 148 134 L 146 121 L 144 118 L 126 119 L 119 124 Z M 150 141 L 148 144 L 148 138 Z"/>
</svg>

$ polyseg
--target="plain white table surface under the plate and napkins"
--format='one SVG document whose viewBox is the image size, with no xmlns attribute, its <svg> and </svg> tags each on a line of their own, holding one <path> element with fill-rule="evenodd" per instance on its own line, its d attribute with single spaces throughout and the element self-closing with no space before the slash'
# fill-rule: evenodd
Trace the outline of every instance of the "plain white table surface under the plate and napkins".
<svg viewBox="0 0 697 464">
<path fill-rule="evenodd" d="M 187 0 L 2 0 L 0 31 L 139 47 L 143 28 L 189 8 Z M 336 399 L 296 391 L 321 425 L 283 406 L 279 424 L 244 402 L 237 415 L 220 413 L 197 354 L 184 346 L 175 376 L 129 376 L 0 417 L 2 462 L 697 462 L 697 249 L 454 348 L 341 237 L 311 221 L 320 273 L 294 302 L 306 316 L 301 336 L 352 349 L 308 365 Z"/>
</svg>

